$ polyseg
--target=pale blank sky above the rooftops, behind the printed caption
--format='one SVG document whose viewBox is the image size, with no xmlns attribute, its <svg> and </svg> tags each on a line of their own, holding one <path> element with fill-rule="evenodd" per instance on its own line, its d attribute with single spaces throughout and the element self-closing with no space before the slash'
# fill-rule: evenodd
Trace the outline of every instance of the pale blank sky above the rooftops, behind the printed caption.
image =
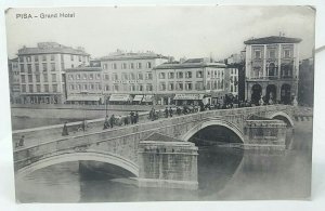
<svg viewBox="0 0 325 211">
<path fill-rule="evenodd" d="M 70 18 L 16 18 L 17 14 L 75 13 Z M 23 45 L 54 41 L 83 47 L 92 57 L 117 49 L 166 56 L 223 60 L 250 38 L 301 38 L 300 58 L 312 56 L 314 15 L 309 6 L 26 8 L 6 14 L 8 56 Z"/>
</svg>

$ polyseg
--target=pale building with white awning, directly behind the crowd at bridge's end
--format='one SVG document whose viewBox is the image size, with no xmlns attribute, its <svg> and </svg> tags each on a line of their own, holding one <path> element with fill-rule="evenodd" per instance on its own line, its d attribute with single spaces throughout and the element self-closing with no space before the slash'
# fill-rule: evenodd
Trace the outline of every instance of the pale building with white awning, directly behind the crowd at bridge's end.
<svg viewBox="0 0 325 211">
<path fill-rule="evenodd" d="M 229 93 L 230 74 L 225 64 L 209 58 L 166 63 L 154 68 L 157 101 L 168 105 L 216 103 Z"/>
</svg>

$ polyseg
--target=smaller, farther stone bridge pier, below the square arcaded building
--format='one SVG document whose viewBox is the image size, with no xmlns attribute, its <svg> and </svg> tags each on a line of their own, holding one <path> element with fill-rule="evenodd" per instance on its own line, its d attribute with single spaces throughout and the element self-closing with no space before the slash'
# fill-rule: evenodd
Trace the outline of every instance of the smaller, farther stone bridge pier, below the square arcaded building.
<svg viewBox="0 0 325 211">
<path fill-rule="evenodd" d="M 286 123 L 281 120 L 260 118 L 246 120 L 244 149 L 285 150 Z"/>
</svg>

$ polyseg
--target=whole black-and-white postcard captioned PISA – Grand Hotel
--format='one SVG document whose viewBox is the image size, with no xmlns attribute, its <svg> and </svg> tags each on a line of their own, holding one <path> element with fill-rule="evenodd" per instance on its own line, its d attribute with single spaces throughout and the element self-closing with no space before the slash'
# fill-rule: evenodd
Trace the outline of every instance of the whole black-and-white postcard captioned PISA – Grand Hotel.
<svg viewBox="0 0 325 211">
<path fill-rule="evenodd" d="M 315 13 L 8 9 L 16 202 L 309 200 Z"/>
</svg>

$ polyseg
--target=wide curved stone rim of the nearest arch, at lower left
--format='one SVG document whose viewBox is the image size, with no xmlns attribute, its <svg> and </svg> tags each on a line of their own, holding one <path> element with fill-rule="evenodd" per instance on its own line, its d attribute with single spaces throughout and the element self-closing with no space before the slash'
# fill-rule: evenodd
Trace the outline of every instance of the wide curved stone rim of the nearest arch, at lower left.
<svg viewBox="0 0 325 211">
<path fill-rule="evenodd" d="M 139 167 L 133 163 L 132 161 L 125 159 L 120 156 L 107 153 L 95 153 L 95 151 L 74 151 L 74 153 L 65 153 L 61 155 L 51 156 L 39 161 L 32 162 L 22 169 L 18 169 L 16 175 L 18 177 L 23 177 L 36 170 L 43 169 L 46 167 L 50 167 L 53 164 L 58 164 L 63 162 L 70 162 L 70 161 L 99 161 L 105 162 L 109 164 L 114 164 L 120 167 L 128 172 L 132 173 L 134 176 L 139 176 Z"/>
</svg>

